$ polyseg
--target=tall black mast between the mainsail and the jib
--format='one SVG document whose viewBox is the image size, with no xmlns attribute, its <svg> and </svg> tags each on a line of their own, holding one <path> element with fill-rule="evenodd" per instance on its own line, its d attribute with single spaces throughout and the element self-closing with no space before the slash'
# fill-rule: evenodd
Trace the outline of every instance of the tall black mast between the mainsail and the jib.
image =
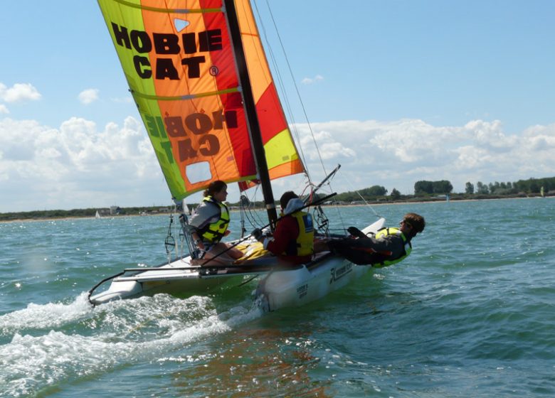
<svg viewBox="0 0 555 398">
<path fill-rule="evenodd" d="M 277 220 L 277 212 L 275 210 L 272 185 L 270 185 L 270 173 L 268 173 L 268 163 L 266 162 L 262 134 L 260 134 L 260 124 L 258 123 L 258 116 L 256 114 L 253 89 L 250 86 L 250 77 L 248 75 L 247 62 L 245 60 L 245 51 L 243 50 L 243 42 L 241 41 L 241 32 L 235 8 L 235 1 L 223 0 L 223 4 L 226 7 L 226 17 L 228 19 L 230 31 L 229 33 L 231 35 L 233 53 L 235 54 L 238 68 L 239 84 L 243 92 L 243 102 L 245 106 L 250 141 L 253 144 L 256 170 L 258 171 L 258 178 L 260 178 L 260 185 L 262 185 L 262 194 L 264 197 L 266 211 L 268 212 L 270 228 L 274 230 L 275 222 Z"/>
</svg>

